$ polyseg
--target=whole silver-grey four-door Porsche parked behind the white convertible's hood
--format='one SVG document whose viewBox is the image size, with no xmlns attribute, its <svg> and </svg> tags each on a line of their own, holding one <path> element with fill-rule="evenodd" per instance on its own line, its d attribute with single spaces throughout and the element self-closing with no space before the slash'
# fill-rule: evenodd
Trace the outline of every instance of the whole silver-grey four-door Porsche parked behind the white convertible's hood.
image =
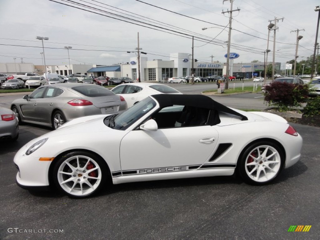
<svg viewBox="0 0 320 240">
<path fill-rule="evenodd" d="M 94 84 L 44 85 L 23 99 L 14 100 L 12 111 L 19 122 L 57 129 L 77 117 L 117 113 L 127 109 L 123 97 Z"/>
</svg>

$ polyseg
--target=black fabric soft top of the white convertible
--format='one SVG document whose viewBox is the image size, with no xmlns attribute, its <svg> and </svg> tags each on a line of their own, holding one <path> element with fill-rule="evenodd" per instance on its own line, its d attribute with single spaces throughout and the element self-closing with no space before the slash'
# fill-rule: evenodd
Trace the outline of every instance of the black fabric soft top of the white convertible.
<svg viewBox="0 0 320 240">
<path fill-rule="evenodd" d="M 219 112 L 224 112 L 242 117 L 241 120 L 248 120 L 248 118 L 212 98 L 200 94 L 156 94 L 152 95 L 157 100 L 161 108 L 172 105 L 183 105 L 196 108 L 213 109 Z"/>
</svg>

